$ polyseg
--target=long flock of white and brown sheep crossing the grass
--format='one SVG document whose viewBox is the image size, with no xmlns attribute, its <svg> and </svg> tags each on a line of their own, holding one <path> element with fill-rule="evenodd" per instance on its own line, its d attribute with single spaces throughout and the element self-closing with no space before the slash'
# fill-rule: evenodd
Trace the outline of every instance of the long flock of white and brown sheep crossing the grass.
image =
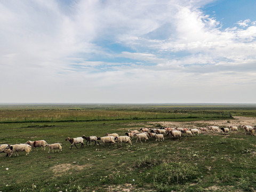
<svg viewBox="0 0 256 192">
<path fill-rule="evenodd" d="M 250 125 L 243 125 L 242 129 L 245 133 L 252 133 L 255 134 L 254 127 Z M 141 132 L 140 132 L 141 131 Z M 73 145 L 77 148 L 76 144 L 81 143 L 81 148 L 84 147 L 84 139 L 89 142 L 95 142 L 94 146 L 97 144 L 100 145 L 99 141 L 103 143 L 103 145 L 109 143 L 118 143 L 119 146 L 122 146 L 122 143 L 130 143 L 132 145 L 131 139 L 134 137 L 137 137 L 136 142 L 138 140 L 142 143 L 141 140 L 148 140 L 151 138 L 156 138 L 156 141 L 164 141 L 165 135 L 170 135 L 172 138 L 179 138 L 181 137 L 182 133 L 186 136 L 193 136 L 195 134 L 199 134 L 200 132 L 223 132 L 228 134 L 230 131 L 238 131 L 237 126 L 229 126 L 225 128 L 219 128 L 219 126 L 207 126 L 207 127 L 199 127 L 198 129 L 187 129 L 187 128 L 171 128 L 171 127 L 161 127 L 161 129 L 148 129 L 148 128 L 141 128 L 140 130 L 131 130 L 129 129 L 128 132 L 125 133 L 125 136 L 119 136 L 117 133 L 106 133 L 105 137 L 96 137 L 96 136 L 90 136 L 85 137 L 83 135 L 82 137 L 78 138 L 67 138 L 66 141 L 69 141 L 71 143 L 71 148 Z M 86 142 L 86 146 L 87 146 Z M 26 151 L 26 155 L 29 155 L 29 152 L 32 150 L 32 148 L 37 147 L 43 147 L 45 150 L 45 147 L 49 147 L 48 153 L 50 153 L 50 150 L 52 149 L 58 149 L 58 151 L 62 151 L 61 143 L 54 143 L 54 144 L 47 144 L 45 140 L 39 140 L 39 141 L 27 141 L 25 144 L 15 144 L 15 145 L 7 145 L 3 144 L 0 145 L 0 153 L 6 153 L 6 156 L 10 155 L 12 156 L 13 153 L 17 153 L 17 156 L 19 156 L 19 151 Z"/>
</svg>

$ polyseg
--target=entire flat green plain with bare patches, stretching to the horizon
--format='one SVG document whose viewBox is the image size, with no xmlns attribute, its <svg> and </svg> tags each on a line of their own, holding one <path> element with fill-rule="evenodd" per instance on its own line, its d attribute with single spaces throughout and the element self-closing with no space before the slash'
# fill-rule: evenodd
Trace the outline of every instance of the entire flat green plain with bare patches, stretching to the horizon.
<svg viewBox="0 0 256 192">
<path fill-rule="evenodd" d="M 0 191 L 255 191 L 254 105 L 2 105 L 0 145 L 46 140 L 62 152 L 0 154 Z M 25 119 L 26 118 L 26 119 Z M 238 132 L 165 135 L 132 146 L 84 146 L 67 137 L 124 135 L 141 127 L 238 126 Z M 5 171 L 9 168 L 8 171 Z"/>
</svg>

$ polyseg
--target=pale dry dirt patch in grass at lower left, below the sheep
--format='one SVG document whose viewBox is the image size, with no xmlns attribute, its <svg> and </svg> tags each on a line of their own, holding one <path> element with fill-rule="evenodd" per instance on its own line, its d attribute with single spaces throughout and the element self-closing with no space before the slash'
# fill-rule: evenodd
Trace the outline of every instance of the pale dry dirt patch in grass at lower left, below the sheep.
<svg viewBox="0 0 256 192">
<path fill-rule="evenodd" d="M 72 174 L 73 172 L 81 171 L 85 167 L 90 167 L 90 165 L 63 163 L 53 166 L 52 171 L 54 172 L 54 176 L 60 176 L 62 174 Z"/>
</svg>

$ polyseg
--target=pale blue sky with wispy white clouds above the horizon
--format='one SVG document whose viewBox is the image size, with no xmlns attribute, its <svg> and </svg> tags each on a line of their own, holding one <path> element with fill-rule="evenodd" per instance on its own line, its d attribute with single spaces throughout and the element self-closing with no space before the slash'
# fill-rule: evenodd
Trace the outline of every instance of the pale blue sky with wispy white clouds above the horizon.
<svg viewBox="0 0 256 192">
<path fill-rule="evenodd" d="M 0 0 L 0 103 L 256 103 L 255 0 Z"/>
</svg>

